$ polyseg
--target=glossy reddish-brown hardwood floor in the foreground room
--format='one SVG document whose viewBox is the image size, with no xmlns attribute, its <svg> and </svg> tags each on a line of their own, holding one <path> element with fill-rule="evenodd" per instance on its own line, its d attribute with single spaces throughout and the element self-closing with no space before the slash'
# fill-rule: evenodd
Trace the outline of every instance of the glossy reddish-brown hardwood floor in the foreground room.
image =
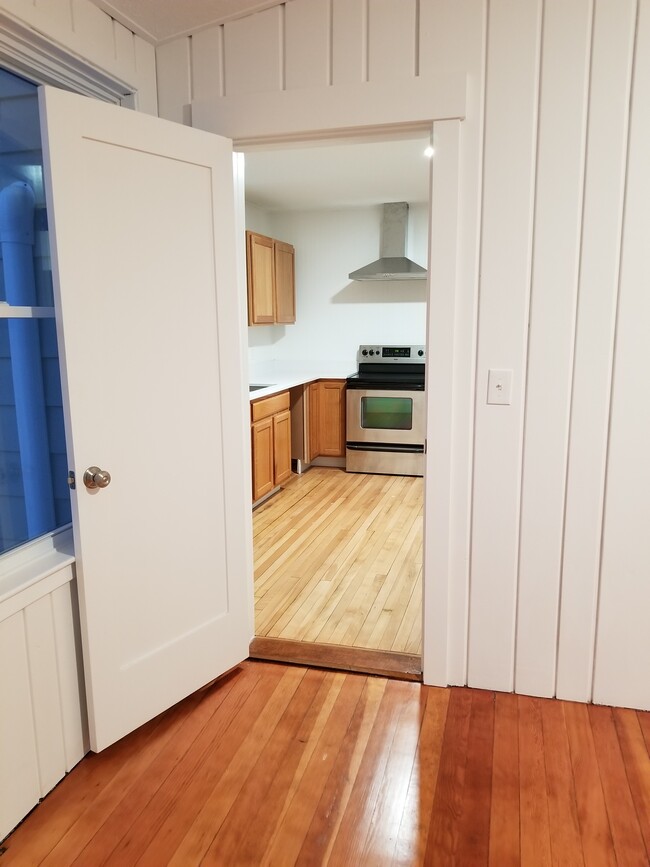
<svg viewBox="0 0 650 867">
<path fill-rule="evenodd" d="M 650 863 L 650 714 L 246 662 L 84 759 L 8 865 Z"/>
</svg>

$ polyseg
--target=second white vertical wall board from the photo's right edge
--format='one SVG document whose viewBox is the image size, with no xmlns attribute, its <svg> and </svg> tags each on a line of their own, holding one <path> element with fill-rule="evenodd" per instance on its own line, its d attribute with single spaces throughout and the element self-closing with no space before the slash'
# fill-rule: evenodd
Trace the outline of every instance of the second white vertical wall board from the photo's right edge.
<svg viewBox="0 0 650 867">
<path fill-rule="evenodd" d="M 556 687 L 574 701 L 593 689 L 635 21 L 634 0 L 594 5 Z"/>
</svg>

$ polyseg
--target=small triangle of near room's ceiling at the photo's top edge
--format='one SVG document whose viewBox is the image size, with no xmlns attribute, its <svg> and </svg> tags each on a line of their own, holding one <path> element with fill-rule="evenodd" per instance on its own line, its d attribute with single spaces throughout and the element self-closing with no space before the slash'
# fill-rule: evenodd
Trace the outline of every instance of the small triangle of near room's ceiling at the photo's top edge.
<svg viewBox="0 0 650 867">
<path fill-rule="evenodd" d="M 281 0 L 92 0 L 120 24 L 154 44 L 222 24 Z"/>
</svg>

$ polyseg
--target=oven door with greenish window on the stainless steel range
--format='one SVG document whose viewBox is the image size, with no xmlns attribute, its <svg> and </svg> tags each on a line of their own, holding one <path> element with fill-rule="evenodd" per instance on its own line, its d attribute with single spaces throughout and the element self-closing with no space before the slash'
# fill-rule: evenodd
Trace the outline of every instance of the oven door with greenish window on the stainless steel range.
<svg viewBox="0 0 650 867">
<path fill-rule="evenodd" d="M 423 391 L 349 388 L 347 442 L 424 447 Z"/>
</svg>

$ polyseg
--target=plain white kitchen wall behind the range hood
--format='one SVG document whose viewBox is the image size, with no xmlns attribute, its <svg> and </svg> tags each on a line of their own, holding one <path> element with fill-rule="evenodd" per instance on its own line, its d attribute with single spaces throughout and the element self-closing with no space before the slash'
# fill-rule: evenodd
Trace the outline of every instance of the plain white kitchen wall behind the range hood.
<svg viewBox="0 0 650 867">
<path fill-rule="evenodd" d="M 259 210 L 251 211 L 261 224 Z M 350 373 L 360 343 L 424 343 L 426 281 L 354 282 L 379 258 L 381 206 L 266 214 L 266 234 L 296 248 L 296 324 L 251 326 L 249 362 L 341 361 Z M 426 267 L 428 206 L 409 209 L 409 250 Z M 256 230 L 257 231 L 257 230 Z"/>
</svg>

